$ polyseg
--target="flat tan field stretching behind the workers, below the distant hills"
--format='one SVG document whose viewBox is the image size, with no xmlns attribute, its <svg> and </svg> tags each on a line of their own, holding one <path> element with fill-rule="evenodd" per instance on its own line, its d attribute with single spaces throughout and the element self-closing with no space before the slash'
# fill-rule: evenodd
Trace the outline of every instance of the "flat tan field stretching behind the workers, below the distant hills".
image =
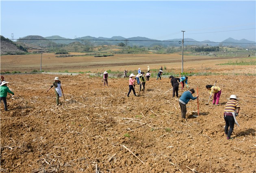
<svg viewBox="0 0 256 173">
<path fill-rule="evenodd" d="M 70 55 L 85 55 L 82 53 L 69 53 Z M 124 72 L 126 70 L 146 71 L 147 66 L 150 69 L 159 69 L 162 65 L 166 67 L 165 72 L 181 71 L 181 54 L 124 54 L 108 57 L 94 56 L 75 56 L 75 57 L 56 57 L 53 53 L 43 53 L 42 70 L 47 72 L 92 72 L 103 73 L 106 70 Z M 223 73 L 232 70 L 232 73 L 239 74 L 255 74 L 255 68 L 249 71 L 247 68 L 234 65 L 216 65 L 220 63 L 228 63 L 229 61 L 255 61 L 255 57 L 225 57 L 225 56 L 201 56 L 201 55 L 184 55 L 183 58 L 184 72 L 217 72 L 223 69 Z M 32 72 L 40 71 L 41 54 L 32 55 L 4 55 L 1 56 L 1 72 Z M 243 72 L 242 72 L 242 71 Z"/>
</svg>

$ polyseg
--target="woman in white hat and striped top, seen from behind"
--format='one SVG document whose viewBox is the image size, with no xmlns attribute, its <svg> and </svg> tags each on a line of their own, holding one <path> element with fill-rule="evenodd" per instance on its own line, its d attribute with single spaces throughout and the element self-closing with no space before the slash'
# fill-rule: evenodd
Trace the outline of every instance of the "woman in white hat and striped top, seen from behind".
<svg viewBox="0 0 256 173">
<path fill-rule="evenodd" d="M 234 129 L 235 117 L 238 116 L 240 110 L 239 98 L 236 95 L 230 95 L 228 102 L 225 105 L 224 110 L 224 120 L 226 122 L 225 125 L 225 134 L 227 139 L 231 139 L 230 136 Z M 229 130 L 228 130 L 229 127 Z"/>
</svg>

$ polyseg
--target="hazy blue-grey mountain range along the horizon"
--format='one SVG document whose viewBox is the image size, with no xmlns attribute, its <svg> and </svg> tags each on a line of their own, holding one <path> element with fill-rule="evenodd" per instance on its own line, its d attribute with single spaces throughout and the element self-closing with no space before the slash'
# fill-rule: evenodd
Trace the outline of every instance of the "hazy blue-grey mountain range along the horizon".
<svg viewBox="0 0 256 173">
<path fill-rule="evenodd" d="M 33 39 L 35 40 L 33 40 Z M 111 38 L 105 37 L 92 37 L 92 36 L 84 36 L 80 38 L 70 39 L 70 38 L 63 38 L 61 36 L 49 36 L 49 37 L 41 37 L 41 36 L 26 36 L 22 39 L 28 40 L 17 40 L 17 42 L 24 42 L 29 44 L 36 44 L 47 47 L 48 45 L 52 45 L 52 43 L 57 44 L 70 44 L 72 42 L 80 42 L 82 44 L 92 44 L 93 46 L 100 46 L 100 45 L 118 45 L 119 43 L 123 42 L 128 46 L 181 46 L 182 38 L 176 39 L 169 39 L 169 40 L 155 40 L 146 37 L 130 37 L 124 38 L 122 36 L 113 36 Z M 47 40 L 46 40 L 47 39 Z M 248 44 L 250 43 L 250 44 Z M 210 40 L 204 40 L 199 42 L 192 38 L 184 38 L 184 46 L 195 45 L 195 46 L 234 46 L 234 47 L 255 47 L 256 42 L 249 41 L 246 39 L 242 40 L 235 40 L 233 38 L 228 38 L 223 40 L 222 42 L 213 42 Z"/>
</svg>

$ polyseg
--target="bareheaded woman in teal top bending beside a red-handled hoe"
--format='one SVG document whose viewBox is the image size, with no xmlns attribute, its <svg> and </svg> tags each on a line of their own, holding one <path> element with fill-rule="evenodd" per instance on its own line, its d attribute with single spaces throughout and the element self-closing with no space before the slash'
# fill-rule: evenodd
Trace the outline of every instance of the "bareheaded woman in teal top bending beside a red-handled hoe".
<svg viewBox="0 0 256 173">
<path fill-rule="evenodd" d="M 179 105 L 181 109 L 181 118 L 186 118 L 187 108 L 186 104 L 189 102 L 190 99 L 195 100 L 198 98 L 198 95 L 196 97 L 193 97 L 193 93 L 195 93 L 194 89 L 190 89 L 189 91 L 185 91 L 179 99 Z"/>
</svg>

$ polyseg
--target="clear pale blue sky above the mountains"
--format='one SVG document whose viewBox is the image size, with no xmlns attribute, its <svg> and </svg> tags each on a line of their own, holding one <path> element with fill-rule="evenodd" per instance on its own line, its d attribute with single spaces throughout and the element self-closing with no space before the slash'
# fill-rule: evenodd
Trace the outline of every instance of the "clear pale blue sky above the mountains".
<svg viewBox="0 0 256 173">
<path fill-rule="evenodd" d="M 256 1 L 4 1 L 1 35 L 256 41 Z"/>
</svg>

